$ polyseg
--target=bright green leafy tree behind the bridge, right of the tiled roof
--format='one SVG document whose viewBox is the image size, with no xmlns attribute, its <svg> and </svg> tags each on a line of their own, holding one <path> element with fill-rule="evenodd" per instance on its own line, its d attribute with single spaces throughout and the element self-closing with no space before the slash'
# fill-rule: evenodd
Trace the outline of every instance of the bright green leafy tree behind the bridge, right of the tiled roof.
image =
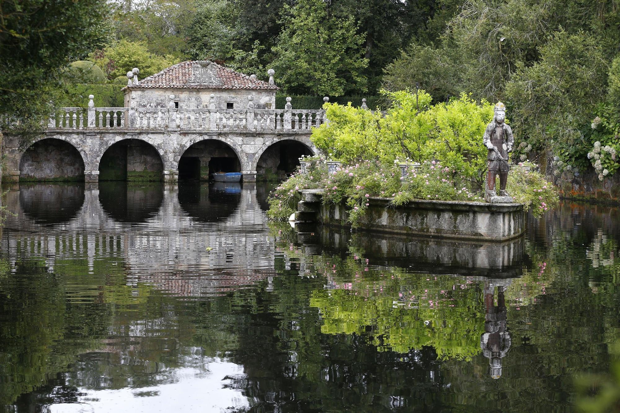
<svg viewBox="0 0 620 413">
<path fill-rule="evenodd" d="M 343 95 L 366 91 L 365 36 L 355 17 L 338 13 L 322 0 L 300 0 L 285 7 L 285 29 L 272 51 L 281 86 L 294 93 Z"/>
</svg>

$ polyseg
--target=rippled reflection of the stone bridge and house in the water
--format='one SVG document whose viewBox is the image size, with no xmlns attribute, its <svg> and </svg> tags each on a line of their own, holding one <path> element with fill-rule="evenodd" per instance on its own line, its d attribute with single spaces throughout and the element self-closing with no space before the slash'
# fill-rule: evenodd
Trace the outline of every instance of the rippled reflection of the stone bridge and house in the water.
<svg viewBox="0 0 620 413">
<path fill-rule="evenodd" d="M 6 195 L 17 216 L 7 219 L 0 247 L 12 268 L 24 253 L 45 259 L 50 272 L 60 270 L 59 262 L 83 260 L 84 272 L 92 273 L 95 261 L 104 261 L 122 266 L 128 282 L 178 295 L 273 275 L 273 242 L 249 184 L 242 190 L 201 184 L 188 189 L 190 197 L 162 184 L 20 186 Z"/>
</svg>

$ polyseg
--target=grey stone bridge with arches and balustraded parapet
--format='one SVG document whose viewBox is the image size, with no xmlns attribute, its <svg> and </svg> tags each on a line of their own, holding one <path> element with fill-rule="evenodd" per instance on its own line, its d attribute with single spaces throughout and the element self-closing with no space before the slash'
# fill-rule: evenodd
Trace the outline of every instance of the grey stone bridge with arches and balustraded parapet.
<svg viewBox="0 0 620 413">
<path fill-rule="evenodd" d="M 324 110 L 63 108 L 27 148 L 4 135 L 5 181 L 277 179 L 316 154 Z"/>
</svg>

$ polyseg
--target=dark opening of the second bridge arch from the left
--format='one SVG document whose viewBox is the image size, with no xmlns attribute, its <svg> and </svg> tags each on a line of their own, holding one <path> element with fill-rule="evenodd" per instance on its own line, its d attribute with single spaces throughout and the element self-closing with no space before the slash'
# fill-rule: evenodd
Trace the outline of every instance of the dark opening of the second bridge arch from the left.
<svg viewBox="0 0 620 413">
<path fill-rule="evenodd" d="M 164 162 L 153 145 L 137 139 L 112 144 L 99 161 L 99 181 L 164 180 Z"/>
</svg>

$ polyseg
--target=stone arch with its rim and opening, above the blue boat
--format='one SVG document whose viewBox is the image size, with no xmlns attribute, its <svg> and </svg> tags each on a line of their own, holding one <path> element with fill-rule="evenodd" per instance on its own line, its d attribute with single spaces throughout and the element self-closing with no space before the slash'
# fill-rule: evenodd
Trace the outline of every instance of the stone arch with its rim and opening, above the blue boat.
<svg viewBox="0 0 620 413">
<path fill-rule="evenodd" d="M 177 156 L 179 179 L 208 180 L 214 172 L 242 172 L 244 152 L 232 139 L 200 136 L 188 140 Z"/>
</svg>

